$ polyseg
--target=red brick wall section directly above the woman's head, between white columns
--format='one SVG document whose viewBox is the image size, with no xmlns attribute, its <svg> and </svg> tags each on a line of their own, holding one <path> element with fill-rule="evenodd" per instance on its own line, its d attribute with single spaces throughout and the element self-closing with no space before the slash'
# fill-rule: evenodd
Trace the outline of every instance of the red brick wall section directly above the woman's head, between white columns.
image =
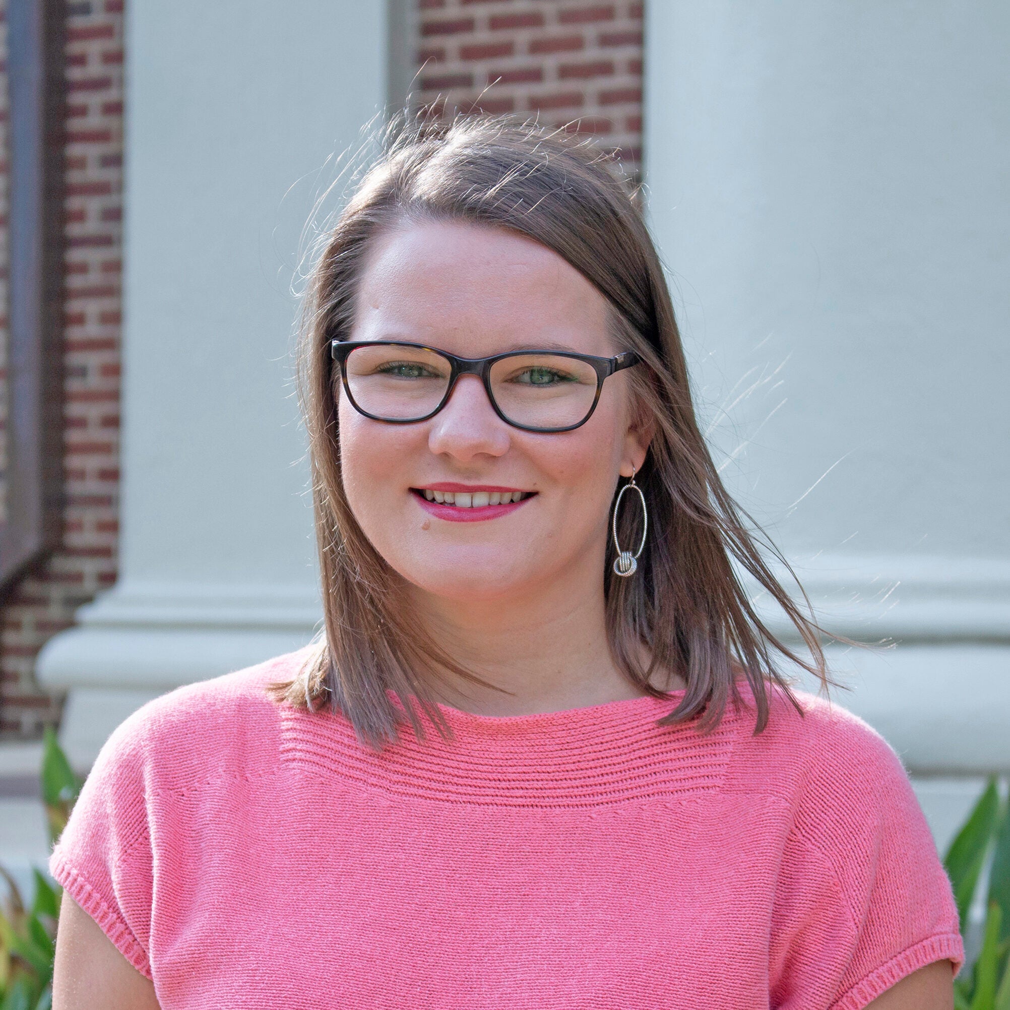
<svg viewBox="0 0 1010 1010">
<path fill-rule="evenodd" d="M 636 173 L 641 158 L 642 4 L 418 0 L 415 100 L 453 110 L 576 122 Z"/>
</svg>

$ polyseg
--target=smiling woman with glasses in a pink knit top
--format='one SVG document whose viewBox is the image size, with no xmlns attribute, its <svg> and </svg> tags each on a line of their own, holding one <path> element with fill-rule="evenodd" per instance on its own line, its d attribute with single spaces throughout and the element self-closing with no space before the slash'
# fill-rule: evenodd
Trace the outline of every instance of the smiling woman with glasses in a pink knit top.
<svg viewBox="0 0 1010 1010">
<path fill-rule="evenodd" d="M 303 350 L 325 635 L 112 734 L 50 863 L 56 1010 L 952 1006 L 922 814 L 776 666 L 826 677 L 819 629 L 719 483 L 609 163 L 405 130 Z"/>
</svg>

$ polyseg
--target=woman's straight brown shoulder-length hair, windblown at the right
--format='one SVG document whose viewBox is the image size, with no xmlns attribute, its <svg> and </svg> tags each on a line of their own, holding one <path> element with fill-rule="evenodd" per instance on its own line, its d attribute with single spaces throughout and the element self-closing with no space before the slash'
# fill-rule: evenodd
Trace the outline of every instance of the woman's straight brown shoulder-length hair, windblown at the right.
<svg viewBox="0 0 1010 1010">
<path fill-rule="evenodd" d="M 398 739 L 402 719 L 389 690 L 419 736 L 411 695 L 439 732 L 451 735 L 418 671 L 447 670 L 486 684 L 446 655 L 403 604 L 402 578 L 366 537 L 343 491 L 338 370 L 330 368 L 329 341 L 351 328 L 363 262 L 377 235 L 412 218 L 507 228 L 552 249 L 607 298 L 621 348 L 645 362 L 627 375 L 634 408 L 654 419 L 636 477 L 649 535 L 630 579 L 612 574 L 609 545 L 604 588 L 611 649 L 627 679 L 655 697 L 666 696 L 649 683 L 655 669 L 674 671 L 687 683 L 684 698 L 661 724 L 697 718 L 700 730 L 712 729 L 729 700 L 740 700 L 742 672 L 755 700 L 754 731 L 761 732 L 770 684 L 797 704 L 776 655 L 828 683 L 821 629 L 780 585 L 764 552 L 792 570 L 720 482 L 695 417 L 663 268 L 616 165 L 564 130 L 466 117 L 444 125 L 401 120 L 325 234 L 309 276 L 299 389 L 312 461 L 325 637 L 300 677 L 271 685 L 272 696 L 315 710 L 328 693 L 331 710 L 343 713 L 363 742 L 381 748 Z M 622 543 L 637 542 L 637 513 L 622 510 Z M 733 560 L 782 607 L 809 659 L 763 623 Z M 650 658 L 646 667 L 638 658 L 642 644 Z"/>
</svg>

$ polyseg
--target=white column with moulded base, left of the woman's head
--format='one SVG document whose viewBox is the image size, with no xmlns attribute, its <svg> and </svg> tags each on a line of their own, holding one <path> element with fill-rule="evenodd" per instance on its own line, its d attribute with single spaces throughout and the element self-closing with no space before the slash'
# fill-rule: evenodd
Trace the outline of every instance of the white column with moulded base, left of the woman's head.
<svg viewBox="0 0 1010 1010">
<path fill-rule="evenodd" d="M 386 47 L 383 3 L 129 4 L 120 576 L 38 663 L 79 767 L 142 701 L 321 616 L 290 285 Z"/>
</svg>

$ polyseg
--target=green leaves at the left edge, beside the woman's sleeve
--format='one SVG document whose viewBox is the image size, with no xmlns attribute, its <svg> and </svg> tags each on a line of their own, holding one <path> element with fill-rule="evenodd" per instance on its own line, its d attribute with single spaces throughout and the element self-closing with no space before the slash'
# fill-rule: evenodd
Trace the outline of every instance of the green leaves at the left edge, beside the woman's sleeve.
<svg viewBox="0 0 1010 1010">
<path fill-rule="evenodd" d="M 67 825 L 81 786 L 57 743 L 57 734 L 46 726 L 41 788 L 50 847 Z M 32 875 L 35 897 L 26 908 L 14 879 L 0 867 L 9 891 L 0 907 L 0 1010 L 49 1010 L 53 1003 L 53 963 L 63 889 L 59 885 L 54 888 L 34 868 Z"/>
</svg>

